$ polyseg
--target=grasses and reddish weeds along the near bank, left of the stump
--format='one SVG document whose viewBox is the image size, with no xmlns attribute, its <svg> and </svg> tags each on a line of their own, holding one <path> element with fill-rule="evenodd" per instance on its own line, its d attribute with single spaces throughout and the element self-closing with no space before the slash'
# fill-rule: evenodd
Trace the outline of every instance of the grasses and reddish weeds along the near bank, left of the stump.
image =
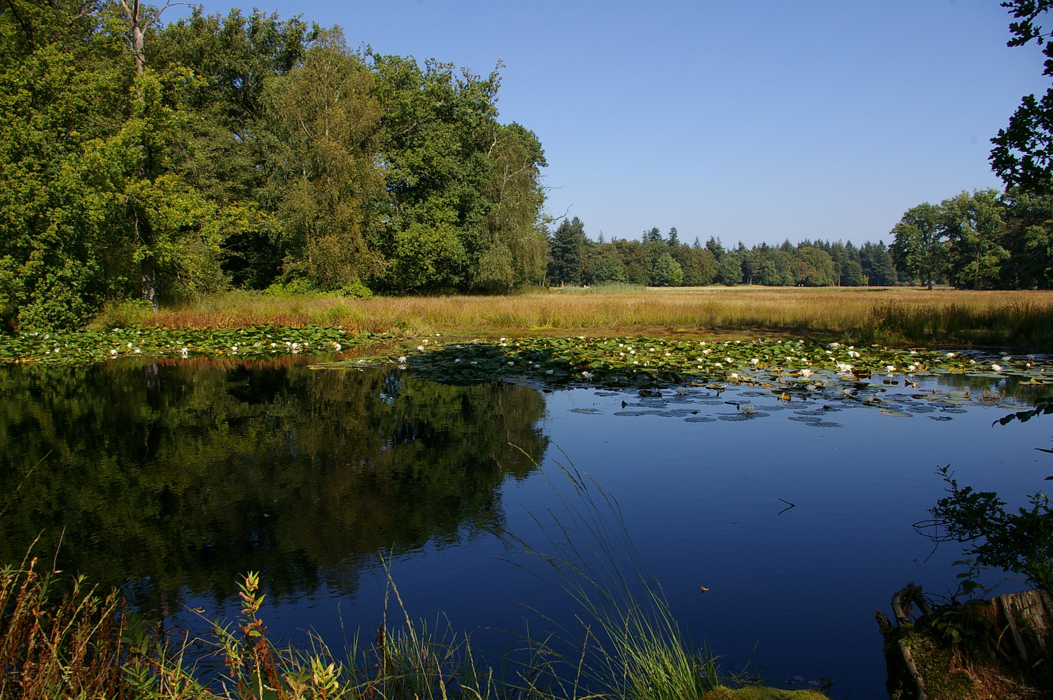
<svg viewBox="0 0 1053 700">
<path fill-rule="evenodd" d="M 117 591 L 100 595 L 83 577 L 58 577 L 31 545 L 20 564 L 0 568 L 0 663 L 6 669 L 0 694 L 157 700 L 829 697 L 830 679 L 775 687 L 748 668 L 728 673 L 704 644 L 695 647 L 632 543 L 617 503 L 573 466 L 559 467 L 565 481 L 558 485 L 542 476 L 555 502 L 528 511 L 545 551 L 511 533 L 503 537 L 512 545 L 511 565 L 548 580 L 581 608 L 579 628 L 558 626 L 543 639 L 528 628 L 489 658 L 473 648 L 469 633 L 455 633 L 441 617 L 436 625 L 414 622 L 381 552 L 385 603 L 372 640 L 359 632 L 334 651 L 309 631 L 305 644 L 274 646 L 263 619 L 265 582 L 254 573 L 238 584 L 239 619 L 202 618 L 208 632 L 192 636 L 132 611 Z"/>
</svg>

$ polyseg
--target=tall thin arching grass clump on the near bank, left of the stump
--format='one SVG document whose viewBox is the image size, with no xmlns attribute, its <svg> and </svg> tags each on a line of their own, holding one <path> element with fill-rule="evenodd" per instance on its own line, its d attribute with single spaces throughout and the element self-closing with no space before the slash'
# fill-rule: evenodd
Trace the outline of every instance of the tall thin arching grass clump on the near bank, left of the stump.
<svg viewBox="0 0 1053 700">
<path fill-rule="evenodd" d="M 717 688 L 717 659 L 691 646 L 617 502 L 573 465 L 557 465 L 570 488 L 543 477 L 555 504 L 528 509 L 543 546 L 514 538 L 525 557 L 514 563 L 548 579 L 584 612 L 585 685 L 620 700 L 701 698 Z"/>
</svg>

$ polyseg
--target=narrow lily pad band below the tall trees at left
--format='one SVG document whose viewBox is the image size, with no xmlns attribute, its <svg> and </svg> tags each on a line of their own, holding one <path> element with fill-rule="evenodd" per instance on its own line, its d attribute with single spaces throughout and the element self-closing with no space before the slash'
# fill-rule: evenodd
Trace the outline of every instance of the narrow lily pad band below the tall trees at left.
<svg viewBox="0 0 1053 700">
<path fill-rule="evenodd" d="M 72 364 L 120 357 L 249 357 L 318 355 L 379 342 L 381 335 L 350 335 L 342 328 L 251 326 L 165 328 L 140 326 L 79 333 L 0 336 L 0 362 Z"/>
</svg>

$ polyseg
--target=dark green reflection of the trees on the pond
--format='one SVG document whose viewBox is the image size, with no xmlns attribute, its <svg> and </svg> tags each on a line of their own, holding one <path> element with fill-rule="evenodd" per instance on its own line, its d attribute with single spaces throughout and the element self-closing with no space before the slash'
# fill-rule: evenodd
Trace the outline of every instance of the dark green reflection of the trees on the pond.
<svg viewBox="0 0 1053 700">
<path fill-rule="evenodd" d="M 0 554 L 36 552 L 165 611 L 187 586 L 349 593 L 381 547 L 500 526 L 498 487 L 547 447 L 540 393 L 393 368 L 114 362 L 0 369 Z M 16 492 L 17 489 L 17 492 Z M 64 528 L 64 535 L 63 535 Z"/>
</svg>

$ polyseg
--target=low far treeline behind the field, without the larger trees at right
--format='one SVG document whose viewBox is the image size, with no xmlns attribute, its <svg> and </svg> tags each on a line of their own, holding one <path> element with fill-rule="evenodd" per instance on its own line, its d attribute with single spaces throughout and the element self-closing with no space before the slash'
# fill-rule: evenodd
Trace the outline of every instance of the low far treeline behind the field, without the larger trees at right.
<svg viewBox="0 0 1053 700">
<path fill-rule="evenodd" d="M 809 241 L 797 245 L 767 243 L 726 249 L 711 237 L 680 242 L 677 229 L 668 236 L 655 227 L 641 240 L 590 240 L 575 217 L 562 221 L 550 242 L 549 283 L 553 285 L 628 282 L 653 286 L 764 284 L 770 286 L 888 286 L 907 284 L 883 241 Z"/>
</svg>

